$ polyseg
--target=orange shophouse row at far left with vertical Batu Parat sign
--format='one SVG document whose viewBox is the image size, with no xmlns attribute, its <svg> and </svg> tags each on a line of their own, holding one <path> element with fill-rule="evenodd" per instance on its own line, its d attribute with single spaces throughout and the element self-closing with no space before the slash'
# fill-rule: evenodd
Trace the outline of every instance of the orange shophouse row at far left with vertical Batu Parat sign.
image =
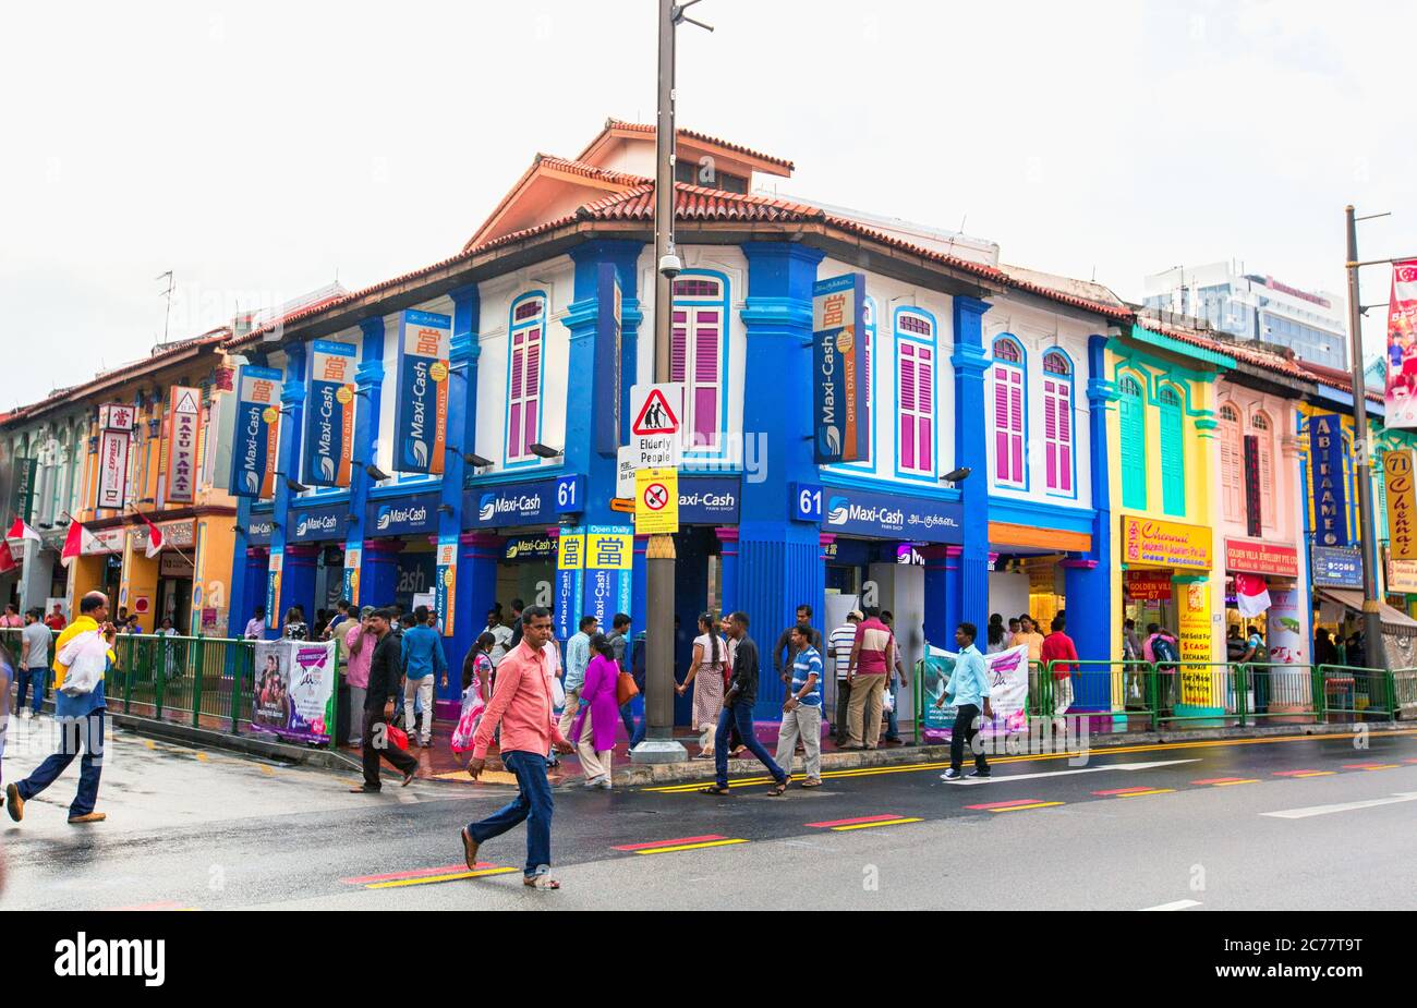
<svg viewBox="0 0 1417 1008">
<path fill-rule="evenodd" d="M 28 515 L 44 537 L 35 559 L 52 571 L 54 589 L 65 585 L 71 613 L 84 593 L 102 590 L 115 617 L 136 614 L 146 633 L 166 617 L 180 634 L 227 634 L 230 418 L 221 430 L 234 368 L 220 344 L 230 336 L 167 344 L 6 418 L 7 436 L 24 430 L 23 445 L 40 446 L 35 484 L 45 490 Z M 51 457 L 55 471 L 45 473 Z M 92 538 L 64 582 L 58 555 L 75 520 Z M 152 556 L 147 522 L 162 539 Z"/>
</svg>

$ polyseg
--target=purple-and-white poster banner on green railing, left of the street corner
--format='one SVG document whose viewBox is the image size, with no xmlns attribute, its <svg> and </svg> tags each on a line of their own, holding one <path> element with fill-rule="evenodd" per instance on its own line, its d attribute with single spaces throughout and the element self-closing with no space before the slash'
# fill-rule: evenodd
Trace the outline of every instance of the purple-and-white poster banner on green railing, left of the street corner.
<svg viewBox="0 0 1417 1008">
<path fill-rule="evenodd" d="M 333 640 L 256 641 L 251 728 L 288 742 L 329 745 L 334 731 L 336 648 Z"/>
</svg>

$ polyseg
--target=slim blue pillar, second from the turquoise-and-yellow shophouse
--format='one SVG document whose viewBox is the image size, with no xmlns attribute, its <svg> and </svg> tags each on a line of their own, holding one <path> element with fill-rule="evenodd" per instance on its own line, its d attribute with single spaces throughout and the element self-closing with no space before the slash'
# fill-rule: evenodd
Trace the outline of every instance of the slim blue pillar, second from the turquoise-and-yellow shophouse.
<svg viewBox="0 0 1417 1008">
<path fill-rule="evenodd" d="M 955 466 L 971 470 L 962 484 L 964 554 L 959 558 L 959 619 L 973 623 L 981 637 L 989 624 L 989 452 L 985 443 L 983 353 L 986 302 L 954 297 L 955 353 Z M 951 627 L 952 630 L 952 627 Z M 951 634 L 952 637 L 952 634 Z"/>
</svg>

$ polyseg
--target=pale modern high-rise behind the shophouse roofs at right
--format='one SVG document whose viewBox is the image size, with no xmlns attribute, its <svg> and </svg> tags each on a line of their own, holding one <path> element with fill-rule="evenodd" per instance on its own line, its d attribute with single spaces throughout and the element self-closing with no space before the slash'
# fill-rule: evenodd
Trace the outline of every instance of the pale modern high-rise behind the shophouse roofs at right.
<svg viewBox="0 0 1417 1008">
<path fill-rule="evenodd" d="M 1348 368 L 1348 326 L 1339 294 L 1291 287 L 1241 263 L 1175 266 L 1146 277 L 1145 304 L 1210 323 L 1243 340 L 1289 347 L 1305 361 Z"/>
</svg>

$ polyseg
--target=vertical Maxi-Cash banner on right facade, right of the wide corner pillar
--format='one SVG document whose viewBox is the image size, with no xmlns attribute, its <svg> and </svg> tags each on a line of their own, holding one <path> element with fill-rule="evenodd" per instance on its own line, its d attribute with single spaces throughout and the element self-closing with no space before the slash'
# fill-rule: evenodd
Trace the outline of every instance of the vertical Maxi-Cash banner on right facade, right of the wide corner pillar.
<svg viewBox="0 0 1417 1008">
<path fill-rule="evenodd" d="M 816 462 L 870 459 L 866 396 L 866 276 L 812 285 L 812 432 Z"/>
</svg>

